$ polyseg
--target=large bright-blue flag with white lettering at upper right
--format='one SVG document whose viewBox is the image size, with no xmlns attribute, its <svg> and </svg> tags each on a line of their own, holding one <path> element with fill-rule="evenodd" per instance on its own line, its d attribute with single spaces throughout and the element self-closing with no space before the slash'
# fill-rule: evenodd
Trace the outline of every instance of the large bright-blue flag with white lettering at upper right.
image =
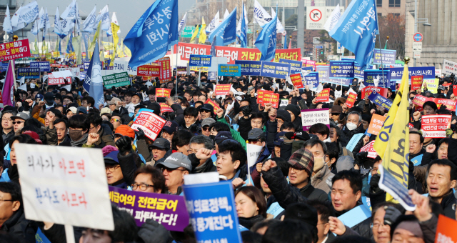
<svg viewBox="0 0 457 243">
<path fill-rule="evenodd" d="M 330 36 L 356 54 L 356 62 L 366 69 L 373 56 L 378 14 L 375 0 L 354 0 L 344 11 Z"/>
</svg>

